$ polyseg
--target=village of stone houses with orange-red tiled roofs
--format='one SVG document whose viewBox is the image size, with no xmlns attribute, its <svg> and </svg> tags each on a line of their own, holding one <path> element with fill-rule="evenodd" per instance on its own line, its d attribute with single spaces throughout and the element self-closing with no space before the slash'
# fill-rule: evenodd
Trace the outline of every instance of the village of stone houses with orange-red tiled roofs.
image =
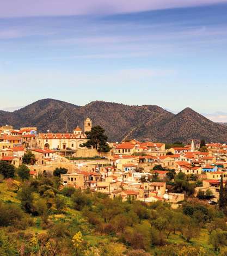
<svg viewBox="0 0 227 256">
<path fill-rule="evenodd" d="M 82 147 L 88 141 L 86 132 L 92 121 L 84 120 L 83 130 L 72 133 L 38 133 L 36 127 L 0 127 L 0 161 L 15 167 L 24 164 L 24 155 L 32 154 L 26 163 L 30 175 L 53 175 L 56 168 L 62 186 L 107 194 L 110 198 L 140 200 L 145 203 L 168 202 L 173 208 L 189 197 L 207 199 L 217 204 L 220 183 L 227 178 L 227 145 L 193 140 L 188 145 L 166 148 L 164 143 L 139 142 L 135 139 L 108 142 L 108 152 Z M 189 187 L 171 186 L 182 177 Z"/>
</svg>

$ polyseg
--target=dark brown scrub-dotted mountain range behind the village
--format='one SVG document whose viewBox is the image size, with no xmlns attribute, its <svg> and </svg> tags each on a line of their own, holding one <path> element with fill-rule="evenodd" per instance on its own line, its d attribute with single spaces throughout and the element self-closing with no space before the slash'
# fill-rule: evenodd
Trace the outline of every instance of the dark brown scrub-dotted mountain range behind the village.
<svg viewBox="0 0 227 256">
<path fill-rule="evenodd" d="M 83 127 L 88 116 L 93 125 L 105 128 L 109 141 L 227 141 L 227 126 L 213 123 L 191 108 L 173 114 L 154 105 L 128 106 L 105 101 L 77 106 L 53 99 L 39 100 L 14 112 L 0 111 L 0 125 L 13 125 L 15 129 L 36 126 L 39 132 L 71 132 L 77 125 Z"/>
</svg>

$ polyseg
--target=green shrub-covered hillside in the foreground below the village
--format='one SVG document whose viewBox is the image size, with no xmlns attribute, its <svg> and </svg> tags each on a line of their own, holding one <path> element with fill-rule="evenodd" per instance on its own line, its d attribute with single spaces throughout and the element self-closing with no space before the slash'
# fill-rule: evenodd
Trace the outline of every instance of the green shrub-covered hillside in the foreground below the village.
<svg viewBox="0 0 227 256">
<path fill-rule="evenodd" d="M 225 255 L 225 242 L 218 244 L 218 254 L 214 251 L 213 235 L 216 227 L 219 235 L 225 232 L 226 219 L 202 201 L 183 203 L 176 211 L 162 202 L 146 205 L 73 187 L 60 189 L 53 176 L 14 178 L 0 182 L 0 255 Z M 18 192 L 14 184 L 20 184 Z M 202 221 L 186 215 L 188 208 Z"/>
</svg>

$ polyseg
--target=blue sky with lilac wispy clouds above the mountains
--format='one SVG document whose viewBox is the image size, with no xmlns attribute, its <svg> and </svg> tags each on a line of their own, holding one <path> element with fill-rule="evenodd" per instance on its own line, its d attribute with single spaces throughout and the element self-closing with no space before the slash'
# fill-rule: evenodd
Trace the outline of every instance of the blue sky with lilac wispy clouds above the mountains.
<svg viewBox="0 0 227 256">
<path fill-rule="evenodd" d="M 227 121 L 227 0 L 0 2 L 0 109 L 104 100 Z"/>
</svg>

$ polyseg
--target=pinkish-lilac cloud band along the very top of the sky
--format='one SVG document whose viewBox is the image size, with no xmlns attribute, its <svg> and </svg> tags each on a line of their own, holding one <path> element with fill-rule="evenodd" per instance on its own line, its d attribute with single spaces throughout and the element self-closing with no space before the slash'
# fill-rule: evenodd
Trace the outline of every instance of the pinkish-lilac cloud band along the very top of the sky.
<svg viewBox="0 0 227 256">
<path fill-rule="evenodd" d="M 131 13 L 225 2 L 226 0 L 2 0 L 0 17 Z"/>
</svg>

